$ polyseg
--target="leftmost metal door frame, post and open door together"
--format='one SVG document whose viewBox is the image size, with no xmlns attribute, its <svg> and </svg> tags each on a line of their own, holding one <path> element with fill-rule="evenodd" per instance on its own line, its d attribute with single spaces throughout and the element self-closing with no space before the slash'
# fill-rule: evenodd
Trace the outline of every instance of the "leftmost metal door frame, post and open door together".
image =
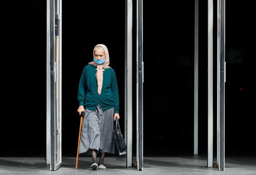
<svg viewBox="0 0 256 175">
<path fill-rule="evenodd" d="M 61 166 L 62 0 L 46 0 L 46 165 Z"/>
</svg>

